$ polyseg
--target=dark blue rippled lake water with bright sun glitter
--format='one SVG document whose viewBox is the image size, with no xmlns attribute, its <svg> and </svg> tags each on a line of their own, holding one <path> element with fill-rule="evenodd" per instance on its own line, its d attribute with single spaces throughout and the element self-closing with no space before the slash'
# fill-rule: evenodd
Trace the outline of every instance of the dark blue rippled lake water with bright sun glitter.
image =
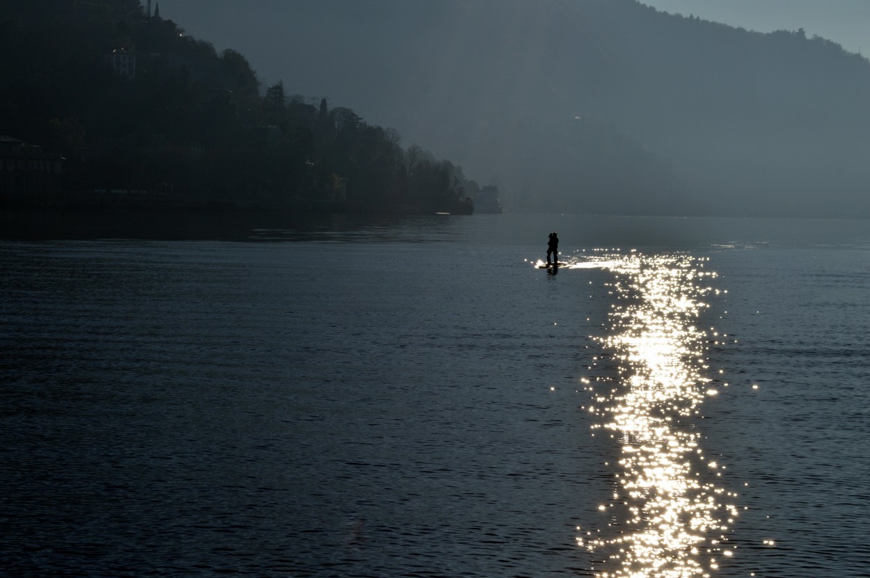
<svg viewBox="0 0 870 578">
<path fill-rule="evenodd" d="M 870 573 L 870 222 L 45 222 L 0 575 Z"/>
</svg>

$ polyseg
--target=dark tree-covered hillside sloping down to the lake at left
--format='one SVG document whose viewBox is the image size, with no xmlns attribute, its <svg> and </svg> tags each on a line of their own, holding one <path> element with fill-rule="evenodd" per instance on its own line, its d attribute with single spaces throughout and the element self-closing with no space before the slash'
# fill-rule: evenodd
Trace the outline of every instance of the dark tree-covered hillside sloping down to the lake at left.
<svg viewBox="0 0 870 578">
<path fill-rule="evenodd" d="M 106 57 L 136 56 L 118 75 Z M 326 99 L 260 94 L 236 50 L 138 0 L 12 3 L 0 15 L 0 134 L 61 152 L 65 189 L 217 206 L 471 212 L 463 171 Z M 319 100 L 319 102 L 318 102 Z"/>
</svg>

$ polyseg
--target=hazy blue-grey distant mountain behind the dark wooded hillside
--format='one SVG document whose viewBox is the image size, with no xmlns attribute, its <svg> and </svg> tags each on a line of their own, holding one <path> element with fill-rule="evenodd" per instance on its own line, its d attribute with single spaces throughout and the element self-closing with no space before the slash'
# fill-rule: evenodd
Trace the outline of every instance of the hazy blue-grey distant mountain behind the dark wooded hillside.
<svg viewBox="0 0 870 578">
<path fill-rule="evenodd" d="M 870 216 L 870 63 L 827 40 L 634 0 L 294 7 L 291 90 L 352 86 L 519 206 Z"/>
</svg>

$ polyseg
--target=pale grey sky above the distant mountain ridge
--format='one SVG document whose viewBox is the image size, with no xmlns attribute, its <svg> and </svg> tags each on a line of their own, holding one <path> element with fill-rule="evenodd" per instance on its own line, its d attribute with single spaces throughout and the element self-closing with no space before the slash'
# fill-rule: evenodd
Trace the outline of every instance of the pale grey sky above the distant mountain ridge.
<svg viewBox="0 0 870 578">
<path fill-rule="evenodd" d="M 748 30 L 806 30 L 870 54 L 870 0 L 642 0 L 658 10 L 694 14 Z"/>
</svg>

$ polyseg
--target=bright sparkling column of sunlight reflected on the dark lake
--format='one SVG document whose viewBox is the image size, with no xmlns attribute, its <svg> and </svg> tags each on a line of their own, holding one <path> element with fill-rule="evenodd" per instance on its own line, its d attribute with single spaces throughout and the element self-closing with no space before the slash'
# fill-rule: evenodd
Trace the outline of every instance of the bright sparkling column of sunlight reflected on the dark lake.
<svg viewBox="0 0 870 578">
<path fill-rule="evenodd" d="M 737 495 L 710 481 L 724 467 L 706 459 L 693 424 L 713 395 L 697 323 L 716 274 L 701 261 L 632 253 L 607 264 L 619 304 L 600 341 L 617 374 L 586 389 L 599 417 L 593 429 L 610 431 L 620 459 L 612 500 L 599 508 L 611 516 L 608 531 L 578 539 L 599 553 L 601 578 L 703 578 L 733 554 Z"/>
</svg>

